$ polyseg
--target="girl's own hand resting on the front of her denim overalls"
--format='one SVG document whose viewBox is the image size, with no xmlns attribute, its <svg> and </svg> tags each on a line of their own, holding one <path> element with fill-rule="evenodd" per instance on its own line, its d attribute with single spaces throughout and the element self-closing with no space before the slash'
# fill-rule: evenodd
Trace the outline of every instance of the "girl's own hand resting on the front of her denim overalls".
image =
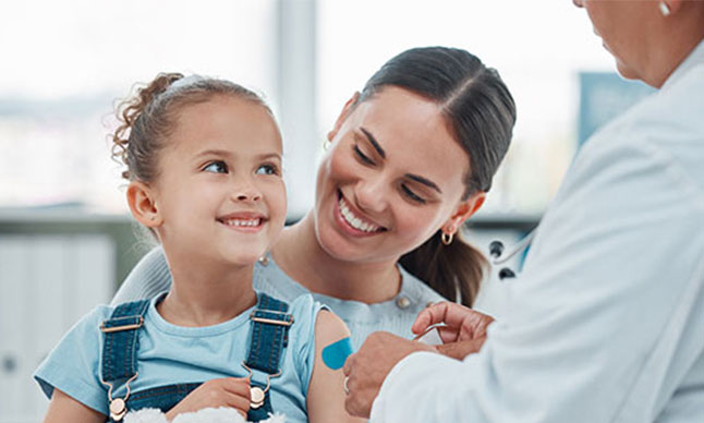
<svg viewBox="0 0 704 423">
<path fill-rule="evenodd" d="M 171 421 L 181 413 L 198 411 L 208 407 L 233 408 L 246 418 L 247 411 L 250 411 L 250 378 L 223 377 L 208 380 L 169 410 L 167 419 Z"/>
</svg>

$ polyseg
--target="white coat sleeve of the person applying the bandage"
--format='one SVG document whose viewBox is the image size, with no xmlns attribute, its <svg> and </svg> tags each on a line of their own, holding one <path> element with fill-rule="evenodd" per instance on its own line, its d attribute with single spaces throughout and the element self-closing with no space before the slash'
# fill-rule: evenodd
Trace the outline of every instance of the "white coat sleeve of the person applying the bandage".
<svg viewBox="0 0 704 423">
<path fill-rule="evenodd" d="M 483 349 L 402 360 L 373 423 L 656 419 L 704 345 L 704 192 L 647 130 L 585 146 Z"/>
</svg>

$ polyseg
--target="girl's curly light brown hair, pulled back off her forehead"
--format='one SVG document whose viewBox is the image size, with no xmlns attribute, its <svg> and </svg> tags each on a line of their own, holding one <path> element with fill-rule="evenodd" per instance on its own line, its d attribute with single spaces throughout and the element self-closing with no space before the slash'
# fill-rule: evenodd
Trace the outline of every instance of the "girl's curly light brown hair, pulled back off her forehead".
<svg viewBox="0 0 704 423">
<path fill-rule="evenodd" d="M 181 73 L 159 73 L 148 85 L 118 106 L 120 125 L 112 133 L 112 158 L 126 166 L 122 178 L 151 182 L 158 174 L 158 154 L 177 129 L 187 106 L 229 96 L 271 110 L 254 92 L 226 80 Z"/>
</svg>

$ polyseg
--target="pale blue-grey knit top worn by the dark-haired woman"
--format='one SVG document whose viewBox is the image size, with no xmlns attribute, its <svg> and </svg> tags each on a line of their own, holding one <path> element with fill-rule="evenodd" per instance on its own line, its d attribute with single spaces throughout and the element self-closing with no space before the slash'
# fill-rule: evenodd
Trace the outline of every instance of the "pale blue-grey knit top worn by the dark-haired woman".
<svg viewBox="0 0 704 423">
<path fill-rule="evenodd" d="M 312 264 L 313 266 L 314 264 Z M 376 330 L 386 330 L 404 338 L 412 338 L 411 325 L 418 312 L 429 303 L 445 300 L 430 287 L 409 274 L 399 265 L 401 289 L 396 298 L 381 303 L 366 304 L 312 293 L 307 288 L 291 279 L 267 255 L 254 266 L 254 289 L 282 301 L 291 302 L 299 295 L 311 293 L 313 298 L 328 305 L 340 316 L 352 334 L 352 346 L 356 350 L 366 337 Z M 132 270 L 112 299 L 113 304 L 149 298 L 168 290 L 171 274 L 160 247 L 149 252 Z"/>
</svg>

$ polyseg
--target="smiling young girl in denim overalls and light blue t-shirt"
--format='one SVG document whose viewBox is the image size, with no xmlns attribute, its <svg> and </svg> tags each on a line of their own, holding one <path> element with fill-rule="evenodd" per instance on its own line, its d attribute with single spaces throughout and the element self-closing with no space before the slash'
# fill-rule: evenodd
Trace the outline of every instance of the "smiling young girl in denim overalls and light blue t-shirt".
<svg viewBox="0 0 704 423">
<path fill-rule="evenodd" d="M 173 283 L 71 329 L 35 374 L 51 399 L 45 422 L 120 421 L 145 407 L 171 419 L 206 406 L 255 421 L 271 411 L 350 420 L 342 372 L 323 360 L 328 345 L 333 359 L 344 352 L 344 324 L 309 295 L 287 304 L 252 288 L 286 215 L 268 107 L 227 81 L 160 74 L 121 120 L 113 155 L 128 167 L 128 203 L 161 243 Z"/>
</svg>

